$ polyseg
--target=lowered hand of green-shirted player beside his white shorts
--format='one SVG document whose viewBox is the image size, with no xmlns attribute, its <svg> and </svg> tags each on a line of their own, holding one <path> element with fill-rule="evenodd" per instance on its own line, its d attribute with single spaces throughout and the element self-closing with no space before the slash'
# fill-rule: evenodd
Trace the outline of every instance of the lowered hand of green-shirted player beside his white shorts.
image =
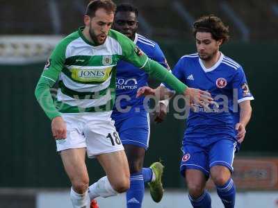
<svg viewBox="0 0 278 208">
<path fill-rule="evenodd" d="M 54 139 L 65 139 L 67 137 L 67 125 L 61 116 L 51 121 L 51 130 Z"/>
</svg>

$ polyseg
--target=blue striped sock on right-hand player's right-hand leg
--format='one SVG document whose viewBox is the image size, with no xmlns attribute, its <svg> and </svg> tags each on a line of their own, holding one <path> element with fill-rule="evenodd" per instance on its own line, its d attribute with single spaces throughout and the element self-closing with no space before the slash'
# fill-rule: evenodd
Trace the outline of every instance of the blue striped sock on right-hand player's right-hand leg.
<svg viewBox="0 0 278 208">
<path fill-rule="evenodd" d="M 218 196 L 222 200 L 225 208 L 234 208 L 236 201 L 236 186 L 230 178 L 224 186 L 216 186 Z"/>
</svg>

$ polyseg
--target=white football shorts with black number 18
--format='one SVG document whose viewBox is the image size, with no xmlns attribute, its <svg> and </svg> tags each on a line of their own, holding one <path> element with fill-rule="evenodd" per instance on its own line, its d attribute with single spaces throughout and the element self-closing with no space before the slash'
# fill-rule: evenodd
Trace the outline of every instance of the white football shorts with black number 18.
<svg viewBox="0 0 278 208">
<path fill-rule="evenodd" d="M 87 148 L 88 157 L 93 158 L 124 150 L 111 114 L 112 111 L 62 114 L 67 125 L 67 138 L 56 140 L 57 151 Z"/>
</svg>

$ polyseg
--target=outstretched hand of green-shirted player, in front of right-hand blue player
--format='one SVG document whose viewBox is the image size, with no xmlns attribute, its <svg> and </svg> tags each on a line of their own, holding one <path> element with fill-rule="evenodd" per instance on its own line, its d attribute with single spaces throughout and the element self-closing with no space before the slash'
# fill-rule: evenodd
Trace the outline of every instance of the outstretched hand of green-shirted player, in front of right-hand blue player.
<svg viewBox="0 0 278 208">
<path fill-rule="evenodd" d="M 183 95 L 189 99 L 190 105 L 195 103 L 195 104 L 207 107 L 208 104 L 215 103 L 213 101 L 213 98 L 211 97 L 211 94 L 209 92 L 203 91 L 201 89 L 195 89 L 195 88 L 188 87 L 188 88 L 186 88 L 186 91 L 183 92 Z"/>
</svg>

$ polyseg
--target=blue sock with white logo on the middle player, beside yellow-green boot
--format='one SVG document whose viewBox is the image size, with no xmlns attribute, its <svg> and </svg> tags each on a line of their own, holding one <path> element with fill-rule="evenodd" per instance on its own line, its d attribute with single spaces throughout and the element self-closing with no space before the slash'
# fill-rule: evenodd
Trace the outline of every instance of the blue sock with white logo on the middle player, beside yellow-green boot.
<svg viewBox="0 0 278 208">
<path fill-rule="evenodd" d="M 130 188 L 126 191 L 126 207 L 140 208 L 144 197 L 145 186 L 142 171 L 131 173 Z"/>
</svg>

